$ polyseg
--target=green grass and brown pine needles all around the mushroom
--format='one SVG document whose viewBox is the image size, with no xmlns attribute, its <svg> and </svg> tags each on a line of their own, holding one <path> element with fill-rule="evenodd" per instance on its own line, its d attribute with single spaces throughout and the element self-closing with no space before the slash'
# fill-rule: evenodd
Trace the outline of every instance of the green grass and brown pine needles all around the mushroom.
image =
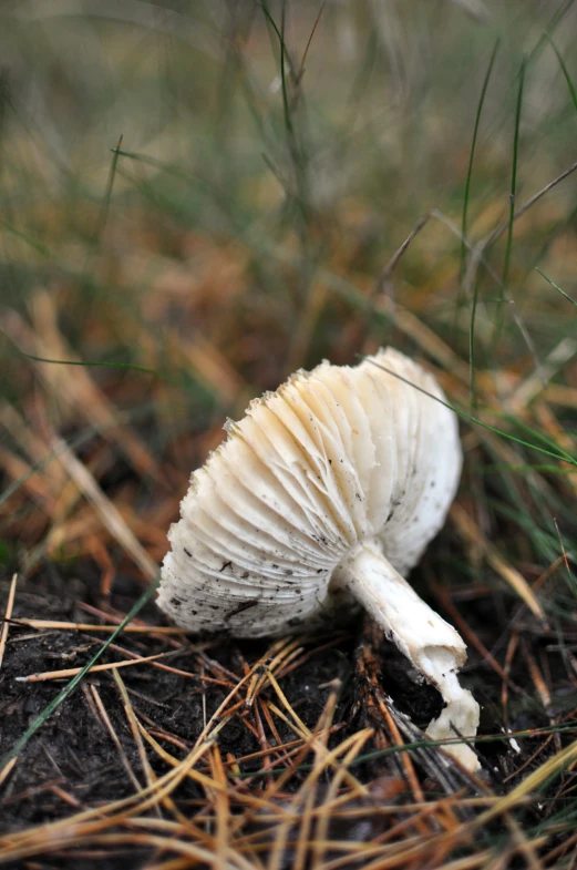
<svg viewBox="0 0 577 870">
<path fill-rule="evenodd" d="M 41 702 L 3 745 L 1 862 L 574 866 L 576 16 L 567 0 L 0 11 L 7 596 L 19 574 L 0 677 Z M 423 741 L 370 625 L 357 652 L 328 636 L 209 656 L 155 634 L 150 610 L 134 622 L 225 418 L 299 366 L 387 344 L 461 416 L 457 502 L 414 577 L 470 647 L 481 779 Z M 34 588 L 52 601 L 51 575 L 80 577 L 93 610 L 29 606 Z M 47 674 L 81 669 L 60 694 L 14 684 L 25 644 L 61 657 Z M 112 671 L 90 676 L 101 657 Z M 127 659 L 145 661 L 113 667 Z M 178 695 L 142 707 L 142 674 L 196 693 L 196 730 Z M 80 705 L 125 777 L 103 774 L 93 800 L 27 769 Z"/>
</svg>

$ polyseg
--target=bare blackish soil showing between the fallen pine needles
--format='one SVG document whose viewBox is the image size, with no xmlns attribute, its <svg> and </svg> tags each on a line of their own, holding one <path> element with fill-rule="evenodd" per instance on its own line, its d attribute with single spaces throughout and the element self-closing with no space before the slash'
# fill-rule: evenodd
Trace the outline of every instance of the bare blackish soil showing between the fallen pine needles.
<svg viewBox="0 0 577 870">
<path fill-rule="evenodd" d="M 0 612 L 3 612 L 6 605 L 8 587 L 9 581 L 6 579 L 0 583 Z M 90 572 L 84 572 L 82 580 L 78 573 L 75 576 L 63 577 L 54 565 L 45 565 L 31 580 L 19 581 L 12 616 L 97 623 L 103 620 L 90 612 L 91 606 L 122 616 L 141 593 L 142 586 L 135 581 L 127 576 L 119 577 L 110 602 L 103 604 L 99 600 L 96 576 L 91 577 Z M 486 622 L 483 606 L 491 608 L 488 598 L 485 604 L 476 602 L 477 618 L 481 615 L 484 625 L 492 626 L 491 634 L 498 638 L 495 613 L 492 614 L 493 623 Z M 192 748 L 206 719 L 229 692 L 226 686 L 204 682 L 203 675 L 209 675 L 212 679 L 225 678 L 226 682 L 227 673 L 233 672 L 238 678 L 247 663 L 250 664 L 264 655 L 269 642 L 239 644 L 224 639 L 199 653 L 194 647 L 194 638 L 154 634 L 153 626 L 162 624 L 162 616 L 154 604 L 147 605 L 138 618 L 152 626 L 151 633 L 122 635 L 117 639 L 122 649 L 106 651 L 102 661 L 125 659 L 128 657 L 126 651 L 141 656 L 172 651 L 169 657 L 163 659 L 164 663 L 186 672 L 186 675 L 169 673 L 151 666 L 150 663 L 124 667 L 121 674 L 134 710 L 141 720 L 150 726 L 151 733 L 164 735 L 165 739 L 177 743 L 181 749 L 186 750 Z M 106 621 L 110 623 L 110 617 Z M 282 676 L 284 692 L 309 728 L 313 728 L 319 720 L 330 690 L 329 684 L 336 678 L 341 680 L 342 688 L 333 717 L 333 724 L 338 726 L 334 740 L 343 739 L 368 721 L 357 669 L 361 638 L 359 627 L 332 638 L 327 636 L 320 641 L 305 641 L 306 653 L 298 667 Z M 91 635 L 86 632 L 34 631 L 17 625 L 10 627 L 0 669 L 0 755 L 12 748 L 66 682 L 52 679 L 27 683 L 18 677 L 80 667 L 90 661 L 104 638 L 105 635 Z M 323 646 L 324 648 L 319 648 Z M 432 687 L 418 685 L 408 678 L 411 675 L 408 675 L 405 659 L 390 644 L 382 642 L 375 654 L 379 659 L 378 680 L 383 690 L 393 698 L 399 709 L 410 714 L 416 725 L 424 726 L 441 707 L 437 693 Z M 525 685 L 527 684 L 526 674 L 515 673 L 512 678 L 524 679 Z M 494 717 L 498 716 L 501 680 L 491 668 L 482 665 L 474 652 L 471 655 L 470 673 L 465 676 L 465 683 L 467 680 L 484 704 L 483 730 L 498 731 L 501 723 L 495 725 Z M 112 673 L 109 671 L 93 674 L 86 677 L 42 725 L 20 754 L 14 770 L 0 790 L 0 835 L 66 817 L 80 809 L 104 805 L 134 794 L 134 782 L 121 762 L 119 748 L 103 721 L 102 714 L 96 709 L 92 686 L 97 690 L 130 766 L 143 784 L 137 745 Z M 557 700 L 563 700 L 563 704 L 569 707 L 571 703 L 575 706 L 575 697 L 568 697 L 570 694 L 570 688 L 561 685 Z M 512 709 L 516 709 L 517 715 L 509 724 L 513 729 L 550 724 L 554 713 L 549 712 L 547 715 L 532 697 L 518 692 L 514 694 Z M 278 725 L 278 733 L 282 740 L 293 738 L 293 733 L 288 727 L 284 728 L 282 723 Z M 503 741 L 480 748 L 492 770 L 493 786 L 498 786 L 501 779 L 514 772 L 522 759 L 533 751 L 533 746 L 528 745 L 518 757 L 511 746 Z M 240 716 L 237 716 L 220 733 L 219 749 L 223 757 L 230 753 L 235 758 L 241 758 L 258 753 L 261 745 L 258 736 L 245 727 Z M 550 750 L 553 749 L 552 745 Z M 538 762 L 543 762 L 545 758 L 546 753 L 539 756 Z M 158 775 L 168 769 L 163 761 L 154 757 L 151 758 L 151 764 Z M 258 760 L 255 765 L 253 769 L 258 769 Z M 365 765 L 358 770 L 358 775 L 370 780 L 388 769 L 387 759 L 382 759 Z M 527 770 L 530 770 L 530 767 Z M 250 772 L 249 762 L 244 762 L 243 772 Z M 179 806 L 194 807 L 202 798 L 194 784 L 183 785 L 178 789 Z M 62 859 L 51 856 L 48 862 L 37 861 L 25 866 L 42 870 L 56 867 L 102 870 L 103 867 L 122 866 L 128 870 L 131 867 L 142 867 L 144 862 L 145 853 L 131 849 L 130 854 L 120 852 L 117 858 L 109 853 L 104 864 L 96 857 L 79 854 Z"/>
</svg>

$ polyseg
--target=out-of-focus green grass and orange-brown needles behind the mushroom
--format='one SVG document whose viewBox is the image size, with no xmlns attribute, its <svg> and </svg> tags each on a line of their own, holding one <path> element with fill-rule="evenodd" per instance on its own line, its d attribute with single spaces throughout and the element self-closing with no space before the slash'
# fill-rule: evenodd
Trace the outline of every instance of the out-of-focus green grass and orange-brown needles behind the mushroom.
<svg viewBox="0 0 577 870">
<path fill-rule="evenodd" d="M 4 566 L 106 591 L 126 530 L 159 561 L 227 416 L 392 344 L 463 412 L 460 576 L 488 539 L 539 576 L 574 532 L 576 48 L 567 0 L 4 0 Z"/>
</svg>

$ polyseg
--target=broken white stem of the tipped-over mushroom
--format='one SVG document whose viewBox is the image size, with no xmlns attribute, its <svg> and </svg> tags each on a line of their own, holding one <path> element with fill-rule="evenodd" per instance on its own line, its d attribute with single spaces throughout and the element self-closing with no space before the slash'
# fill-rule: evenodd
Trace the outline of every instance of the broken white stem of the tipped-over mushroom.
<svg viewBox="0 0 577 870">
<path fill-rule="evenodd" d="M 364 541 L 353 550 L 334 572 L 333 583 L 347 587 L 363 604 L 387 636 L 441 693 L 446 706 L 429 724 L 429 737 L 474 737 L 480 707 L 456 676 L 466 662 L 465 644 L 395 571 L 380 542 Z M 477 758 L 466 744 L 447 745 L 445 751 L 468 770 L 477 769 Z"/>
</svg>

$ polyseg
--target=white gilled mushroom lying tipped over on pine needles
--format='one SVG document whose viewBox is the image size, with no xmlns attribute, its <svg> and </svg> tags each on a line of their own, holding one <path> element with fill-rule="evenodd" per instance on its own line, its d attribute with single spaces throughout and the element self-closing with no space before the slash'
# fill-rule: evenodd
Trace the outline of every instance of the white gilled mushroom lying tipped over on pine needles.
<svg viewBox="0 0 577 870">
<path fill-rule="evenodd" d="M 343 624 L 362 605 L 441 693 L 426 734 L 474 737 L 478 704 L 456 676 L 465 644 L 404 579 L 462 465 L 432 375 L 392 348 L 357 367 L 324 361 L 225 428 L 171 528 L 161 608 L 193 632 L 259 637 Z M 477 768 L 465 743 L 445 751 Z"/>
</svg>

